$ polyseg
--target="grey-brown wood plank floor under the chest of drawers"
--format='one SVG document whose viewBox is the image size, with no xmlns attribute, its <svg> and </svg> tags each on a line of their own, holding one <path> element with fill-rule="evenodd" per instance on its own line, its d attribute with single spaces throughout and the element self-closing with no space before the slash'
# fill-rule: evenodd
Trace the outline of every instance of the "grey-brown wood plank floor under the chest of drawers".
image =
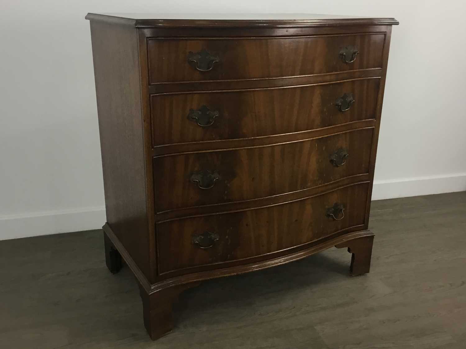
<svg viewBox="0 0 466 349">
<path fill-rule="evenodd" d="M 371 272 L 332 248 L 203 282 L 152 342 L 100 231 L 0 241 L 0 348 L 466 348 L 466 192 L 372 203 Z"/>
</svg>

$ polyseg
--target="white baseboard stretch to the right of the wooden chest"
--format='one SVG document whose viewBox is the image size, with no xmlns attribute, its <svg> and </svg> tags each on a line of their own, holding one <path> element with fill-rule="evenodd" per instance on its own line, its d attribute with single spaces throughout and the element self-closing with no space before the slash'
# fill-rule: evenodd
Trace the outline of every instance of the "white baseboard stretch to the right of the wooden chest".
<svg viewBox="0 0 466 349">
<path fill-rule="evenodd" d="M 466 174 L 374 181 L 372 200 L 452 193 L 466 190 Z"/>
</svg>

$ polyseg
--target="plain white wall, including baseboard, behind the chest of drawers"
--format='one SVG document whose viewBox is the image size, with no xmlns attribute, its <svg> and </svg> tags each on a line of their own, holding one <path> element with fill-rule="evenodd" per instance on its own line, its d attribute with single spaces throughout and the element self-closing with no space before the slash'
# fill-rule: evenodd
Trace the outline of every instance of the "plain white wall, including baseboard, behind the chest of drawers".
<svg viewBox="0 0 466 349">
<path fill-rule="evenodd" d="M 88 12 L 395 17 L 374 199 L 466 190 L 463 1 L 1 0 L 0 239 L 105 221 Z"/>
</svg>

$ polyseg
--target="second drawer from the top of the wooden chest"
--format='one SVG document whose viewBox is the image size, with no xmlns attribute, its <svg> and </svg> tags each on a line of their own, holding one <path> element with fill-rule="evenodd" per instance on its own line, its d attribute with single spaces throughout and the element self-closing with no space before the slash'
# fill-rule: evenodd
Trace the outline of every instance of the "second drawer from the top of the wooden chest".
<svg viewBox="0 0 466 349">
<path fill-rule="evenodd" d="M 288 134 L 376 118 L 379 79 L 151 96 L 152 144 Z"/>
</svg>

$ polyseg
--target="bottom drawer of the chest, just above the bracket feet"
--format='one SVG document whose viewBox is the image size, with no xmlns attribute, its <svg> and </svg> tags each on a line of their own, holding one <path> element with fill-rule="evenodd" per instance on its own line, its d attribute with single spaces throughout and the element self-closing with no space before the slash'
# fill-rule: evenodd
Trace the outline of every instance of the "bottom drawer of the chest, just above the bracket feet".
<svg viewBox="0 0 466 349">
<path fill-rule="evenodd" d="M 368 188 L 358 183 L 280 205 L 158 223 L 159 272 L 256 257 L 361 228 Z"/>
</svg>

